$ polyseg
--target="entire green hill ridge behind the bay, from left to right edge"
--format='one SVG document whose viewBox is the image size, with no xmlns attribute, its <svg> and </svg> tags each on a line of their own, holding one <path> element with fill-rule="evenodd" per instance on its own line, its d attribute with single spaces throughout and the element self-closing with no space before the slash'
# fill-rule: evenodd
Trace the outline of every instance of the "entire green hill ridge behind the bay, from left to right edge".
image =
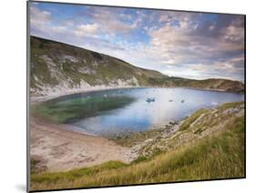
<svg viewBox="0 0 256 193">
<path fill-rule="evenodd" d="M 31 36 L 30 92 L 47 96 L 92 86 L 183 86 L 242 92 L 243 84 L 225 79 L 192 80 L 165 76 L 116 57 Z"/>
</svg>

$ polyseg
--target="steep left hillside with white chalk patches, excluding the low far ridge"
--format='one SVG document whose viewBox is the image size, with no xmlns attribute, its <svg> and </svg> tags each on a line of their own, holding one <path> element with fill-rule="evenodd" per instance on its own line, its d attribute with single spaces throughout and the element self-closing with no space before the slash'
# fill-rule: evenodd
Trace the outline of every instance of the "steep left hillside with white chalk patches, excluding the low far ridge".
<svg viewBox="0 0 256 193">
<path fill-rule="evenodd" d="M 165 76 L 115 57 L 31 36 L 30 87 L 33 95 L 58 85 L 69 88 L 79 88 L 83 84 L 149 86 L 148 78 L 156 77 Z"/>
</svg>

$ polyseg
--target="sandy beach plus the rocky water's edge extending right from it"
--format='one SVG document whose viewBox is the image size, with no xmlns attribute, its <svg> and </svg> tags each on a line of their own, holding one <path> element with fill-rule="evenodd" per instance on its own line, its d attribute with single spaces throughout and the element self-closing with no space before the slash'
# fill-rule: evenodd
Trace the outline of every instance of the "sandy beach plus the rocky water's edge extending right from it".
<svg viewBox="0 0 256 193">
<path fill-rule="evenodd" d="M 128 147 L 118 143 L 115 137 L 96 136 L 79 127 L 31 117 L 30 160 L 37 162 L 39 173 L 93 167 L 108 161 L 130 164 L 140 156 L 140 149 L 147 146 L 152 139 L 159 137 L 159 134 L 164 134 L 165 137 L 173 135 L 181 123 L 182 121 L 173 121 L 166 123 L 165 127 L 130 133 L 127 137 L 141 134 L 149 136 L 140 138 L 138 143 Z"/>
</svg>

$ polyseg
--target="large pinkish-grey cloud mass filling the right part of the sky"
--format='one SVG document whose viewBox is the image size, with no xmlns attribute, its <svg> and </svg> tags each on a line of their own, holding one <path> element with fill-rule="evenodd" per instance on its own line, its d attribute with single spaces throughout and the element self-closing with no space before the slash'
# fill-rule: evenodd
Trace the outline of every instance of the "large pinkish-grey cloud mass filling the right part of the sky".
<svg viewBox="0 0 256 193">
<path fill-rule="evenodd" d="M 171 25 L 174 20 L 179 21 L 178 25 Z M 162 64 L 187 67 L 209 75 L 218 67 L 236 73 L 243 70 L 244 61 L 240 60 L 242 67 L 239 69 L 230 58 L 243 58 L 242 20 L 242 16 L 236 15 L 218 15 L 212 21 L 198 14 L 160 15 L 159 21 L 168 23 L 149 27 L 147 32 L 150 46 L 158 50 L 155 56 Z"/>
</svg>

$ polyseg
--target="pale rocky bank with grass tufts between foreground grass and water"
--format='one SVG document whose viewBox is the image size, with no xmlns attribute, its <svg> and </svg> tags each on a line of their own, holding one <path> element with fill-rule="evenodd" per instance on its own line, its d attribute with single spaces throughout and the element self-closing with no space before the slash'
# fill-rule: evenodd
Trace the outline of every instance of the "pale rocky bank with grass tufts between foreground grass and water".
<svg viewBox="0 0 256 193">
<path fill-rule="evenodd" d="M 167 152 L 196 143 L 202 138 L 222 132 L 237 117 L 244 115 L 243 102 L 230 103 L 229 108 L 200 109 L 186 118 L 179 129 L 167 137 L 158 137 L 139 150 L 140 156 L 153 157 L 155 153 Z"/>
</svg>

